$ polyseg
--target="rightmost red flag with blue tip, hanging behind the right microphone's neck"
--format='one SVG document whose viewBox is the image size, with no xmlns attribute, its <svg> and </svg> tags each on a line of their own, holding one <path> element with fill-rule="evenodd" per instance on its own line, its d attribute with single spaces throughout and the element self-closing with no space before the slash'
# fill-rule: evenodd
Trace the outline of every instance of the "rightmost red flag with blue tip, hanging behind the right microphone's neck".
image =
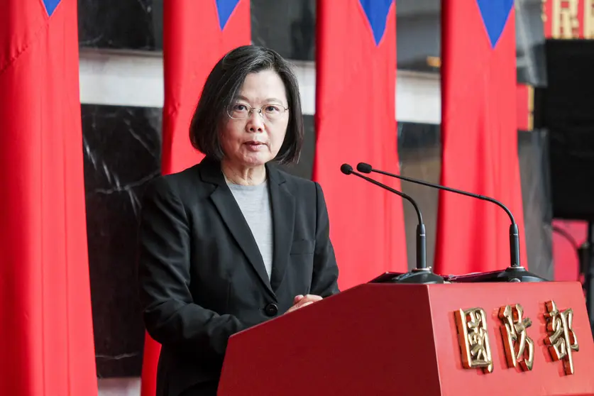
<svg viewBox="0 0 594 396">
<path fill-rule="evenodd" d="M 519 226 L 527 267 L 517 158 L 513 0 L 442 1 L 441 183 L 500 200 Z M 440 192 L 436 272 L 510 265 L 510 219 L 490 202 Z"/>
</svg>

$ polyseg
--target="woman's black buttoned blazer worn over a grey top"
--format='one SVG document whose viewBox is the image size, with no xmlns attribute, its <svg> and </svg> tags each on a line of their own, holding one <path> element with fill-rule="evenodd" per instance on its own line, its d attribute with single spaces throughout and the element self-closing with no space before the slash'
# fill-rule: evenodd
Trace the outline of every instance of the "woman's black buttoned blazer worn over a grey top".
<svg viewBox="0 0 594 396">
<path fill-rule="evenodd" d="M 229 336 L 285 313 L 296 295 L 339 292 L 321 187 L 266 169 L 270 281 L 220 163 L 202 160 L 145 191 L 138 276 L 146 329 L 162 344 L 158 396 L 218 381 Z"/>
</svg>

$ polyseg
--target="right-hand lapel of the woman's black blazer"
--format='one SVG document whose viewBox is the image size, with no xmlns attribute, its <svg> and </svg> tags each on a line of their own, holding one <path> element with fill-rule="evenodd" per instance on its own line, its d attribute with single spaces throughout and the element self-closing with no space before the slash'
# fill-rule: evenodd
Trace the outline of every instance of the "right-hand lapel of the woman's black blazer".
<svg viewBox="0 0 594 396">
<path fill-rule="evenodd" d="M 268 170 L 274 227 L 273 272 L 270 275 L 270 284 L 273 291 L 276 292 L 287 270 L 289 249 L 295 224 L 295 198 L 287 189 L 282 174 L 274 167 L 267 165 L 266 168 Z"/>
</svg>

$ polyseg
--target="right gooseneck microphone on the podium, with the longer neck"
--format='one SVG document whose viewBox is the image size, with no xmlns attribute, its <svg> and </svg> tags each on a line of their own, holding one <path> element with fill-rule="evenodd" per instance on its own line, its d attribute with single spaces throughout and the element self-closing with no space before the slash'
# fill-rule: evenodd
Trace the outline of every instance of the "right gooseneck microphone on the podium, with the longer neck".
<svg viewBox="0 0 594 396">
<path fill-rule="evenodd" d="M 497 199 L 493 199 L 491 197 L 485 197 L 484 195 L 480 194 L 473 194 L 472 192 L 462 191 L 461 189 L 454 189 L 451 187 L 445 187 L 442 185 L 436 185 L 434 183 L 425 182 L 423 180 L 413 179 L 412 177 L 406 177 L 401 175 L 395 175 L 393 173 L 384 172 L 383 170 L 374 169 L 371 165 L 366 163 L 358 163 L 357 170 L 362 173 L 380 173 L 381 175 L 386 175 L 390 177 L 396 177 L 400 180 L 405 180 L 406 182 L 416 183 L 417 185 L 424 185 L 427 187 L 432 187 L 436 189 L 443 189 L 445 191 L 453 192 L 456 194 L 466 195 L 466 197 L 473 197 L 477 199 L 482 199 L 483 201 L 492 202 L 496 204 L 498 207 L 503 209 L 507 216 L 510 217 L 510 267 L 508 267 L 505 271 L 494 271 L 491 273 L 480 273 L 480 274 L 469 274 L 469 275 L 458 275 L 458 276 L 451 276 L 448 277 L 448 280 L 456 281 L 456 282 L 544 282 L 546 279 L 539 277 L 538 275 L 534 275 L 529 273 L 522 265 L 519 263 L 519 231 L 517 227 L 517 223 L 514 219 L 514 215 L 507 209 L 507 207 L 502 204 L 501 202 L 497 201 Z"/>
</svg>

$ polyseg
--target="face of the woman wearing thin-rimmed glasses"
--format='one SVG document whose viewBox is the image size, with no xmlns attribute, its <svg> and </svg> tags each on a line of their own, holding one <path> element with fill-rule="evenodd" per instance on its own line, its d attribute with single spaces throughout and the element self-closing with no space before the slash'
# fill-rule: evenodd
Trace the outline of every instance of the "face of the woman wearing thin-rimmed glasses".
<svg viewBox="0 0 594 396">
<path fill-rule="evenodd" d="M 239 167 L 258 167 L 273 160 L 285 141 L 287 107 L 285 84 L 276 72 L 250 73 L 221 130 L 224 160 Z"/>
</svg>

